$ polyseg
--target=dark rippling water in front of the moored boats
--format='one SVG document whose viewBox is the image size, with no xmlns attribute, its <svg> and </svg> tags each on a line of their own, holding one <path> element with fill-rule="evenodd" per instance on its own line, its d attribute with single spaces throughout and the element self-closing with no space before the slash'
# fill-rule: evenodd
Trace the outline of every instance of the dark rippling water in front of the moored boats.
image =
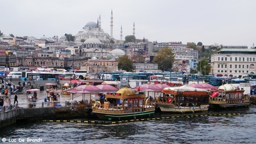
<svg viewBox="0 0 256 144">
<path fill-rule="evenodd" d="M 107 125 L 68 122 L 21 123 L 3 128 L 0 131 L 0 139 L 20 138 L 24 139 L 24 144 L 31 143 L 27 142 L 27 138 L 41 138 L 43 143 L 47 144 L 255 143 L 256 107 L 219 112 L 231 113 L 231 115 L 168 118 Z M 252 114 L 233 115 L 244 112 Z M 206 113 L 216 112 L 197 114 Z"/>
</svg>

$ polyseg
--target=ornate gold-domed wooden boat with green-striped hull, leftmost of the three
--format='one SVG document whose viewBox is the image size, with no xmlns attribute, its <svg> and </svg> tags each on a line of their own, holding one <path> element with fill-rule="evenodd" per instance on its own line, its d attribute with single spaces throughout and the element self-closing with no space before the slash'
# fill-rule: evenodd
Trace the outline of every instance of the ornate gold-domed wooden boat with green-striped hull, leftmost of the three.
<svg viewBox="0 0 256 144">
<path fill-rule="evenodd" d="M 120 89 L 116 93 L 105 95 L 105 101 L 94 101 L 93 112 L 100 120 L 129 120 L 153 116 L 155 106 L 149 102 L 146 95 L 136 94 L 127 87 Z"/>
</svg>

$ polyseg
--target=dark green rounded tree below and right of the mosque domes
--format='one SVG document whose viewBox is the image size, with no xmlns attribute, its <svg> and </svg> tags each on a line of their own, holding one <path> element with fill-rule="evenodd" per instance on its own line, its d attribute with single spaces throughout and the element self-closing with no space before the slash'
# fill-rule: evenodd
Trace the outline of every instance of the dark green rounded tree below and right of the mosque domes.
<svg viewBox="0 0 256 144">
<path fill-rule="evenodd" d="M 128 55 L 118 57 L 118 69 L 126 70 L 127 72 L 132 72 L 135 69 L 133 62 Z"/>
</svg>

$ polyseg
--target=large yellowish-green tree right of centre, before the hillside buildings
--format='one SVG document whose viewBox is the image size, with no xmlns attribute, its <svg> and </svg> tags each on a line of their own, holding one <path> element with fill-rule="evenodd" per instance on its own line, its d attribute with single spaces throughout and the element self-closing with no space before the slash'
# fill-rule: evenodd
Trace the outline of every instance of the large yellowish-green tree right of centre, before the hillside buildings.
<svg viewBox="0 0 256 144">
<path fill-rule="evenodd" d="M 153 62 L 158 64 L 158 69 L 162 71 L 169 71 L 172 69 L 172 63 L 174 62 L 175 54 L 168 46 L 163 47 L 156 56 L 154 56 Z"/>
</svg>

